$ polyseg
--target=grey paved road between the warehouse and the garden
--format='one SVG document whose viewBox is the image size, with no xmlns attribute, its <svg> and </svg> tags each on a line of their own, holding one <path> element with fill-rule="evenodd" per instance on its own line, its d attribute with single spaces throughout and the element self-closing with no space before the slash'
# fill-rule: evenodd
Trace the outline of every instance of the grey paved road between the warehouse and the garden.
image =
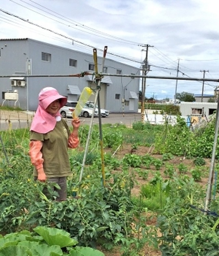
<svg viewBox="0 0 219 256">
<path fill-rule="evenodd" d="M 27 118 L 27 114 L 24 114 L 24 117 L 22 118 L 22 115 L 19 116 L 19 121 L 18 118 L 15 116 L 13 119 L 10 119 L 10 122 L 8 121 L 7 118 L 2 118 L 0 120 L 0 131 L 1 130 L 8 130 L 9 129 L 9 124 L 11 125 L 12 129 L 19 129 L 19 128 L 28 128 L 30 127 L 31 120 L 33 118 L 33 115 L 29 115 Z M 91 118 L 84 118 L 80 117 L 81 124 L 90 124 Z M 135 121 L 140 121 L 141 120 L 141 113 L 110 113 L 110 115 L 106 118 L 101 118 L 101 123 L 102 124 L 116 124 L 116 123 L 121 123 L 125 124 L 127 126 L 132 126 L 132 123 Z M 71 119 L 67 119 L 68 125 L 70 125 Z M 94 124 L 99 124 L 99 118 L 95 117 L 93 119 Z"/>
</svg>

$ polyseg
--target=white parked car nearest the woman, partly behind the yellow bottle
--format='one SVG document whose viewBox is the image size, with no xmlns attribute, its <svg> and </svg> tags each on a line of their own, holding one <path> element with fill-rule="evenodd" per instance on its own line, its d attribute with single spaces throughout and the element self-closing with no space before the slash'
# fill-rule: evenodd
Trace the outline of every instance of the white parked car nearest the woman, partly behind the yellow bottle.
<svg viewBox="0 0 219 256">
<path fill-rule="evenodd" d="M 63 118 L 66 118 L 66 117 L 72 117 L 72 113 L 77 105 L 77 101 L 67 101 L 65 106 L 63 106 L 61 109 L 60 109 L 60 114 Z M 91 117 L 93 113 L 93 108 L 89 108 L 87 106 L 84 106 L 80 112 L 80 117 Z M 94 112 L 94 117 L 97 117 L 98 116 L 98 110 L 95 110 Z"/>
</svg>

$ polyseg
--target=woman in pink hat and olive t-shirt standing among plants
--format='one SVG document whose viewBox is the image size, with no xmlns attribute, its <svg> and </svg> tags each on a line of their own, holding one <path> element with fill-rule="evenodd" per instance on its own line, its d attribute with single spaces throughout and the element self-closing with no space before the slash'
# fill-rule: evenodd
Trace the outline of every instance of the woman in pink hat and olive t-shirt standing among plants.
<svg viewBox="0 0 219 256">
<path fill-rule="evenodd" d="M 67 98 L 53 87 L 45 87 L 39 93 L 39 105 L 30 127 L 29 155 L 34 165 L 35 180 L 54 182 L 60 186 L 56 200 L 67 198 L 67 176 L 71 174 L 68 147 L 79 144 L 80 120 L 72 120 L 73 131 L 61 118 L 60 108 Z"/>
</svg>

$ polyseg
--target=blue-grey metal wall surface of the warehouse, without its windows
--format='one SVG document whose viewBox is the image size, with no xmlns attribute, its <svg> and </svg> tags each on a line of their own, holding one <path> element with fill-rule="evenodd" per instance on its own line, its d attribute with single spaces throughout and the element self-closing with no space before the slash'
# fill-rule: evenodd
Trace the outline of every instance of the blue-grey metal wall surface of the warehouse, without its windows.
<svg viewBox="0 0 219 256">
<path fill-rule="evenodd" d="M 93 55 L 74 51 L 71 49 L 47 44 L 32 39 L 0 40 L 0 47 L 7 44 L 1 51 L 0 74 L 13 75 L 15 72 L 27 74 L 27 60 L 31 60 L 32 75 L 57 75 L 57 74 L 77 74 L 88 71 L 89 63 L 93 63 Z M 41 60 L 42 52 L 51 54 L 51 62 Z M 102 56 L 98 58 L 99 70 L 102 64 Z M 77 60 L 75 67 L 69 66 L 69 59 Z M 110 59 L 105 60 L 107 73 L 116 74 L 117 69 L 123 74 L 139 74 L 139 69 Z M 109 109 L 111 112 L 121 112 L 121 100 L 124 97 L 129 100 L 129 92 L 139 93 L 140 78 L 111 77 L 112 84 L 104 84 L 101 88 L 101 107 Z M 59 90 L 60 94 L 68 96 L 68 85 L 76 85 L 82 91 L 89 81 L 85 77 L 29 77 L 27 86 L 22 88 L 11 87 L 9 78 L 0 78 L 1 92 L 8 89 L 18 89 L 19 102 L 22 109 L 36 110 L 38 105 L 38 93 L 45 86 L 53 86 Z M 27 89 L 28 88 L 28 89 Z M 124 90 L 124 88 L 126 90 Z M 125 95 L 124 95 L 125 91 Z M 28 93 L 27 93 L 28 92 Z M 120 99 L 115 99 L 115 94 L 120 94 Z M 2 99 L 3 101 L 3 99 Z M 125 106 L 127 112 L 138 112 L 138 99 L 134 100 L 134 110 Z"/>
</svg>

